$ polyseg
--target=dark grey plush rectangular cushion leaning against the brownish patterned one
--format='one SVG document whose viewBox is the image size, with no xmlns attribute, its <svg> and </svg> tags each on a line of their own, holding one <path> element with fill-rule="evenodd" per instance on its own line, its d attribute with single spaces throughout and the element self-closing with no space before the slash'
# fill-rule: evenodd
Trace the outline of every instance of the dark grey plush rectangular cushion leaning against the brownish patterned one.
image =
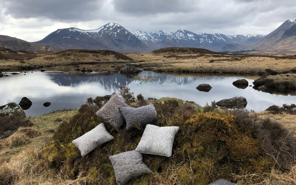
<svg viewBox="0 0 296 185">
<path fill-rule="evenodd" d="M 145 128 L 147 124 L 157 122 L 157 113 L 153 104 L 139 108 L 121 107 L 120 111 L 126 120 L 126 130 L 136 127 L 139 123 Z"/>
</svg>

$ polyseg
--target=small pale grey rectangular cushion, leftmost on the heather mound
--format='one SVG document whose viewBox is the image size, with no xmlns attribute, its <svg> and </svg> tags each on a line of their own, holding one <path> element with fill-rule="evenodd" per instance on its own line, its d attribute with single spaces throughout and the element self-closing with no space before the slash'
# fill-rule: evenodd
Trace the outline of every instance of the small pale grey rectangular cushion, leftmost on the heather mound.
<svg viewBox="0 0 296 185">
<path fill-rule="evenodd" d="M 104 123 L 100 123 L 91 131 L 83 134 L 82 136 L 72 141 L 81 152 L 82 156 L 85 156 L 91 152 L 97 145 L 102 145 L 110 140 L 114 139 L 112 135 L 106 130 Z"/>
</svg>

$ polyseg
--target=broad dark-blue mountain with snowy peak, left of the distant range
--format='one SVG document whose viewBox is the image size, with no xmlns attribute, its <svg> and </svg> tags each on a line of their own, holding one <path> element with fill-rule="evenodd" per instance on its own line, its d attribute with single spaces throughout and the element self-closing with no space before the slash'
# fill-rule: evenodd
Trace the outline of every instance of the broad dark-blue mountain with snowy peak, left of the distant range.
<svg viewBox="0 0 296 185">
<path fill-rule="evenodd" d="M 145 52 L 147 46 L 133 33 L 117 23 L 96 30 L 58 29 L 36 43 L 65 49 L 108 49 L 120 52 Z"/>
</svg>

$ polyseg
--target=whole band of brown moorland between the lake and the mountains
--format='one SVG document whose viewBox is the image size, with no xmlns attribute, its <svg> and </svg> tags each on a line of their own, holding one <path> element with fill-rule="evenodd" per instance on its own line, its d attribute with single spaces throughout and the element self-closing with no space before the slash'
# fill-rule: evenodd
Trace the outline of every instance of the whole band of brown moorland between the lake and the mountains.
<svg viewBox="0 0 296 185">
<path fill-rule="evenodd" d="M 214 62 L 210 62 L 210 61 Z M 278 73 L 296 68 L 295 55 L 223 54 L 197 48 L 165 48 L 150 53 L 106 50 L 66 50 L 58 53 L 0 53 L 0 70 L 26 69 L 32 65 L 126 63 L 144 70 L 189 73 L 257 74 L 265 69 Z"/>
</svg>

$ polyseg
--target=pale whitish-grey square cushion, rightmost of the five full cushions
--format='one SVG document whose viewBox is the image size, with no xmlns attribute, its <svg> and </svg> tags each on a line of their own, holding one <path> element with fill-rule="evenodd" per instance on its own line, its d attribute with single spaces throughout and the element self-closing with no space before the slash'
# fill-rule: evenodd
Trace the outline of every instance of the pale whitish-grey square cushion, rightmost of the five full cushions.
<svg viewBox="0 0 296 185">
<path fill-rule="evenodd" d="M 144 154 L 170 157 L 172 155 L 175 134 L 178 130 L 178 126 L 159 127 L 148 124 L 136 151 Z"/>
</svg>

